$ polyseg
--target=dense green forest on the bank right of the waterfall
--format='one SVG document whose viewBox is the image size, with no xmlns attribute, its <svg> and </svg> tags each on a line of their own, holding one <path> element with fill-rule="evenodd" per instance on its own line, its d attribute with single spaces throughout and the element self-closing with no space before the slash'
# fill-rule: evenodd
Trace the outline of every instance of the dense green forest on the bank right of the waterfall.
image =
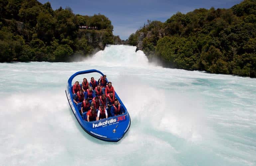
<svg viewBox="0 0 256 166">
<path fill-rule="evenodd" d="M 166 67 L 256 77 L 256 0 L 149 20 L 128 41 Z"/>
</svg>

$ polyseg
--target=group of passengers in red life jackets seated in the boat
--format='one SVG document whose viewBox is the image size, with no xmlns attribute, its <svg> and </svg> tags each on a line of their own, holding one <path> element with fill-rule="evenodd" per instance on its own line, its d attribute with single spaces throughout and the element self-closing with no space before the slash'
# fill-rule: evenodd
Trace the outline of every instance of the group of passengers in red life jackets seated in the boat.
<svg viewBox="0 0 256 166">
<path fill-rule="evenodd" d="M 90 82 L 83 78 L 80 86 L 76 81 L 72 93 L 75 104 L 81 103 L 80 114 L 86 113 L 86 121 L 98 121 L 108 117 L 124 114 L 124 109 L 115 97 L 115 90 L 111 82 L 107 82 L 106 75 L 101 76 L 98 81 L 91 77 Z"/>
</svg>

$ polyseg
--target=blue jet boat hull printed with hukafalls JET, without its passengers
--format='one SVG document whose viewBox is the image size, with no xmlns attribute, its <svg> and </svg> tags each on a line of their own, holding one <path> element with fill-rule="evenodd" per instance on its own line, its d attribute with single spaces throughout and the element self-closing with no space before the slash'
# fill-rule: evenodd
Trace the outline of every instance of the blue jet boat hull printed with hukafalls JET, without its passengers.
<svg viewBox="0 0 256 166">
<path fill-rule="evenodd" d="M 65 93 L 66 93 L 69 106 L 76 120 L 78 121 L 78 123 L 80 124 L 80 126 L 83 128 L 84 131 L 86 131 L 88 134 L 100 140 L 117 142 L 128 131 L 131 124 L 131 120 L 126 107 L 124 106 L 124 104 L 122 103 L 122 101 L 120 100 L 116 92 L 115 92 L 115 96 L 117 97 L 119 103 L 123 106 L 125 113 L 119 116 L 109 117 L 107 119 L 103 119 L 99 121 L 93 121 L 93 122 L 84 121 L 82 116 L 79 113 L 79 110 L 76 104 L 73 102 L 73 95 L 72 95 L 72 89 L 71 89 L 71 86 L 72 86 L 71 83 L 73 78 L 80 74 L 87 74 L 92 72 L 100 73 L 102 76 L 104 75 L 100 71 L 93 69 L 93 70 L 76 72 L 68 79 Z"/>
</svg>

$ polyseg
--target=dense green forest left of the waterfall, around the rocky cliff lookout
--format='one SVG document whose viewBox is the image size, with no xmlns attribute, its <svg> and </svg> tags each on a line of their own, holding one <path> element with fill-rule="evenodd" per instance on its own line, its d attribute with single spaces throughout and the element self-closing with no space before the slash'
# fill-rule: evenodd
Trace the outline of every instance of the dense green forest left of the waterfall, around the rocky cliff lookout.
<svg viewBox="0 0 256 166">
<path fill-rule="evenodd" d="M 37 0 L 0 0 L 0 62 L 58 62 L 87 55 L 93 46 L 77 37 L 82 25 L 97 27 L 86 31 L 103 31 L 103 44 L 113 43 L 113 26 L 104 15 L 76 15 L 68 7 L 54 11 L 49 2 Z"/>
</svg>

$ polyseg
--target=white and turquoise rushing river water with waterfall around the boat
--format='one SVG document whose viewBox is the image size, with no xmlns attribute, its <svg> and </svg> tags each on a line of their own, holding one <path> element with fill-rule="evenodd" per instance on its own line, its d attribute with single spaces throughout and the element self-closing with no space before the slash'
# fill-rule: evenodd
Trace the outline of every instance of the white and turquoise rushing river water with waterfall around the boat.
<svg viewBox="0 0 256 166">
<path fill-rule="evenodd" d="M 256 79 L 162 68 L 135 49 L 0 63 L 0 165 L 256 165 Z M 128 109 L 118 143 L 85 133 L 67 103 L 67 79 L 86 69 L 106 74 Z"/>
</svg>

